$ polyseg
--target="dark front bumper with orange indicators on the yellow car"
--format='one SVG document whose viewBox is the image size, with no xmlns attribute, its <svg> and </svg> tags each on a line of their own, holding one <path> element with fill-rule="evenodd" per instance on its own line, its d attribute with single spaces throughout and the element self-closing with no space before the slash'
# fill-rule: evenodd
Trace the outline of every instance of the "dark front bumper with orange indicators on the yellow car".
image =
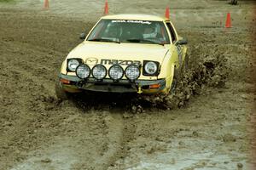
<svg viewBox="0 0 256 170">
<path fill-rule="evenodd" d="M 112 79 L 97 81 L 94 78 L 82 80 L 79 77 L 60 74 L 62 88 L 67 92 L 76 93 L 81 90 L 111 93 L 138 93 L 138 94 L 159 94 L 166 91 L 166 79 L 160 80 L 119 80 L 113 82 Z"/>
</svg>

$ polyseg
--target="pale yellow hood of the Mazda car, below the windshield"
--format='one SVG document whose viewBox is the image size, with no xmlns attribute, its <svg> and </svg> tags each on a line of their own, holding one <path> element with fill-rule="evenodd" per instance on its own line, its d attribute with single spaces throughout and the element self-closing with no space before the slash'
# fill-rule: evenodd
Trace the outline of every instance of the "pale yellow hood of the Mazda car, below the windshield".
<svg viewBox="0 0 256 170">
<path fill-rule="evenodd" d="M 126 65 L 133 61 L 139 61 L 142 64 L 143 60 L 162 63 L 168 49 L 168 46 L 159 44 L 82 42 L 68 54 L 67 59 L 84 59 L 89 65 L 90 63 L 113 65 L 122 61 L 125 61 Z"/>
</svg>

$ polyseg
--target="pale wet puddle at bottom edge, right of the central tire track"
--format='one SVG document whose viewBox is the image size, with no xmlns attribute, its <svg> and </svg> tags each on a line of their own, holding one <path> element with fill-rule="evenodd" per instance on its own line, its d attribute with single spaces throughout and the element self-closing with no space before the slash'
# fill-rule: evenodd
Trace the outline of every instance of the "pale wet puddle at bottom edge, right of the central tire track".
<svg viewBox="0 0 256 170">
<path fill-rule="evenodd" d="M 189 153 L 188 153 L 189 154 Z M 172 158 L 169 160 L 169 158 Z M 178 161 L 176 161 L 176 159 Z M 224 162 L 224 163 L 223 163 Z M 222 164 L 222 165 L 220 165 Z M 153 159 L 148 159 L 139 162 L 137 165 L 127 167 L 126 170 L 143 170 L 143 169 L 180 169 L 180 170 L 190 170 L 190 169 L 201 169 L 201 170 L 214 170 L 214 169 L 237 169 L 239 166 L 246 164 L 246 158 L 241 163 L 232 163 L 230 156 L 216 156 L 214 153 L 198 153 L 193 154 L 183 159 L 179 159 L 177 155 L 173 154 L 161 154 L 155 156 Z M 216 166 L 218 165 L 218 166 Z M 244 167 L 245 169 L 248 169 Z"/>
</svg>

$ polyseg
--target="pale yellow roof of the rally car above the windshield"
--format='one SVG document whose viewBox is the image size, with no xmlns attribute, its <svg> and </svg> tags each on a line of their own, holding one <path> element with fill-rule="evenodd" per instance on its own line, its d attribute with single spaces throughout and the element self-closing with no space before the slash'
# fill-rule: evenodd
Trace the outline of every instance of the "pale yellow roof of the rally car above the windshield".
<svg viewBox="0 0 256 170">
<path fill-rule="evenodd" d="M 103 16 L 104 20 L 151 20 L 151 21 L 166 21 L 166 18 L 150 15 L 150 14 L 113 14 Z"/>
</svg>

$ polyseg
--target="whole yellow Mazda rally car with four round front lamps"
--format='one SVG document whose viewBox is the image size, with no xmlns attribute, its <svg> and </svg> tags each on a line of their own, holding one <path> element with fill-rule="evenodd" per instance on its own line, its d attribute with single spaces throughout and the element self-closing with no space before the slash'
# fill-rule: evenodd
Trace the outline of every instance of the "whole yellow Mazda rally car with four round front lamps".
<svg viewBox="0 0 256 170">
<path fill-rule="evenodd" d="M 83 90 L 168 94 L 188 63 L 187 40 L 154 15 L 107 15 L 80 38 L 61 65 L 59 99 Z"/>
</svg>

